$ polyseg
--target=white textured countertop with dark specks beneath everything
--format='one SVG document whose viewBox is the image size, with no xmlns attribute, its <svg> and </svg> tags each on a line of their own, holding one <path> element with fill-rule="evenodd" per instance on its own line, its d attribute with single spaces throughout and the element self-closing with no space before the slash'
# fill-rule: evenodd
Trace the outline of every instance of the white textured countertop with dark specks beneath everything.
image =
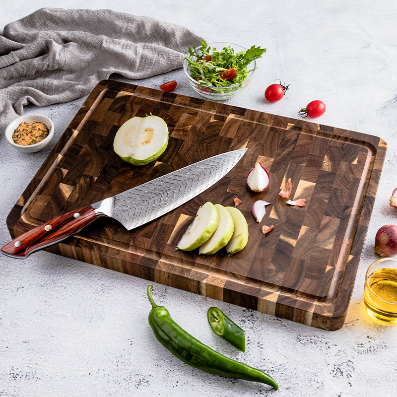
<svg viewBox="0 0 397 397">
<path fill-rule="evenodd" d="M 185 25 L 207 41 L 265 47 L 255 81 L 228 103 L 298 118 L 308 102 L 321 99 L 327 111 L 317 122 L 381 136 L 388 153 L 342 329 L 321 331 L 154 284 L 155 300 L 183 328 L 268 372 L 277 392 L 201 372 L 172 356 L 148 325 L 146 280 L 38 252 L 25 261 L 0 257 L 0 396 L 394 396 L 397 326 L 371 321 L 362 291 L 366 268 L 377 259 L 376 231 L 397 218 L 389 206 L 397 186 L 395 0 L 20 0 L 2 7 L 0 29 L 43 6 L 111 8 Z M 290 89 L 269 104 L 265 88 L 276 78 Z M 179 83 L 175 92 L 196 96 L 182 69 L 131 82 L 157 88 L 173 79 Z M 84 100 L 25 109 L 54 121 L 55 138 L 41 152 L 16 152 L 1 133 L 1 246 L 9 241 L 6 216 Z M 238 319 L 246 332 L 245 353 L 212 333 L 206 311 L 213 305 Z"/>
</svg>

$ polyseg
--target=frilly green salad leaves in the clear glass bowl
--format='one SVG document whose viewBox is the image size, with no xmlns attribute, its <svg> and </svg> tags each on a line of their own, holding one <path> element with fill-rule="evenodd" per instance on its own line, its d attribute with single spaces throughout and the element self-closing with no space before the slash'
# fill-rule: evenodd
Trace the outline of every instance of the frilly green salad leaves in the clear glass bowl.
<svg viewBox="0 0 397 397">
<path fill-rule="evenodd" d="M 251 70 L 247 66 L 254 60 L 261 58 L 266 52 L 265 48 L 252 46 L 246 51 L 234 53 L 234 49 L 223 47 L 217 51 L 207 45 L 205 40 L 201 40 L 201 48 L 196 46 L 189 47 L 190 57 L 186 57 L 189 63 L 190 73 L 193 79 L 199 82 L 199 85 L 211 85 L 215 87 L 227 87 L 232 84 L 241 84 L 247 78 Z M 211 60 L 206 62 L 205 57 L 211 56 Z M 236 69 L 236 75 L 230 80 L 223 80 L 219 77 L 219 73 L 231 68 Z M 252 69 L 253 70 L 253 69 Z"/>
</svg>

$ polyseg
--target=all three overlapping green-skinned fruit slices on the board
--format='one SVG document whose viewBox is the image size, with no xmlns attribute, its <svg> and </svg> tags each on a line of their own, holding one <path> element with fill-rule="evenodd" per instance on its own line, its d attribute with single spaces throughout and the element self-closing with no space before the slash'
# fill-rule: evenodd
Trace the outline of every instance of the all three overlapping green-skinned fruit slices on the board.
<svg viewBox="0 0 397 397">
<path fill-rule="evenodd" d="M 231 257 L 241 251 L 248 242 L 248 224 L 242 212 L 235 207 L 206 202 L 177 245 L 177 250 L 212 255 L 221 248 Z"/>
</svg>

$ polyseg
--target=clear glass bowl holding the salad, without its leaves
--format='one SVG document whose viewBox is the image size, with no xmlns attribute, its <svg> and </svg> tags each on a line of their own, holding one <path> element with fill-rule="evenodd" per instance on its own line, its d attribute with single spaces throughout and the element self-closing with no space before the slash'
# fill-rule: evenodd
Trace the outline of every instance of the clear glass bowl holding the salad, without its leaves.
<svg viewBox="0 0 397 397">
<path fill-rule="evenodd" d="M 239 46 L 237 44 L 226 43 L 226 42 L 214 42 L 214 43 L 208 43 L 208 45 L 211 46 L 211 48 L 215 47 L 216 51 L 221 51 L 223 47 L 230 46 L 231 48 L 234 49 L 235 54 L 239 53 L 240 51 L 247 50 L 246 48 Z M 201 46 L 197 47 L 197 49 L 200 50 Z M 228 87 L 214 87 L 212 85 L 205 85 L 205 84 L 199 85 L 199 83 L 190 75 L 190 67 L 188 61 L 185 59 L 183 62 L 183 70 L 185 72 L 185 76 L 186 79 L 188 80 L 189 85 L 198 94 L 200 94 L 206 99 L 211 99 L 213 101 L 224 101 L 245 90 L 252 81 L 256 67 L 257 67 L 257 63 L 255 60 L 247 66 L 247 69 L 251 71 L 248 73 L 247 78 L 243 81 L 241 85 L 233 84 L 233 85 L 229 85 Z"/>
</svg>

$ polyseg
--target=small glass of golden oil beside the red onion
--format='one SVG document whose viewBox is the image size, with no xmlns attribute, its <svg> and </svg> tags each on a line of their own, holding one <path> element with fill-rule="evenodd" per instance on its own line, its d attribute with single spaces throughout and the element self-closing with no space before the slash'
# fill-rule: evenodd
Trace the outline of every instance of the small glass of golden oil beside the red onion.
<svg viewBox="0 0 397 397">
<path fill-rule="evenodd" d="M 397 324 L 397 258 L 382 258 L 368 267 L 364 305 L 373 319 Z"/>
</svg>

